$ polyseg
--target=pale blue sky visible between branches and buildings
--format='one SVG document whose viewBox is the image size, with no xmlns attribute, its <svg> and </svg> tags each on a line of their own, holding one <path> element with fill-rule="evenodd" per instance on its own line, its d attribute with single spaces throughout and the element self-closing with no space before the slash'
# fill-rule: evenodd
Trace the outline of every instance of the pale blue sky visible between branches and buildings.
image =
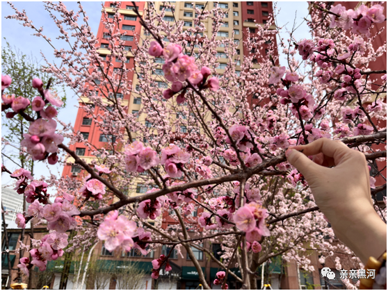
<svg viewBox="0 0 388 291">
<path fill-rule="evenodd" d="M 64 2 L 67 8 L 72 10 L 77 10 L 76 2 Z M 84 10 L 89 17 L 89 24 L 92 28 L 93 33 L 97 33 L 97 29 L 99 26 L 99 19 L 101 17 L 101 5 L 103 2 L 98 1 L 89 1 L 89 2 L 81 2 Z M 42 26 L 44 28 L 43 33 L 47 35 L 51 40 L 53 40 L 54 46 L 61 48 L 65 45 L 63 41 L 56 40 L 56 35 L 58 35 L 58 28 L 49 17 L 49 13 L 45 10 L 42 2 L 29 2 L 29 1 L 18 1 L 14 2 L 14 5 L 19 10 L 26 10 L 26 14 L 33 21 L 33 24 L 36 27 Z M 306 1 L 281 1 L 277 2 L 277 8 L 280 9 L 280 14 L 277 16 L 277 25 L 284 26 L 287 24 L 289 29 L 292 28 L 294 19 L 296 19 L 297 24 L 301 24 L 303 22 L 303 17 L 307 17 L 307 2 Z M 7 15 L 13 15 L 14 12 L 6 2 L 1 2 L 1 45 L 5 45 L 5 41 L 3 38 L 10 43 L 12 47 L 16 47 L 20 49 L 23 53 L 27 55 L 32 54 L 39 61 L 42 62 L 42 65 L 45 64 L 45 61 L 42 59 L 40 52 L 44 53 L 47 59 L 50 62 L 54 62 L 54 54 L 53 49 L 43 40 L 42 38 L 37 38 L 33 36 L 33 31 L 31 28 L 27 28 L 19 24 L 15 20 L 5 19 Z M 295 37 L 297 40 L 302 38 L 309 38 L 308 27 L 305 23 L 303 23 L 298 31 L 296 31 Z M 284 34 L 284 40 L 287 40 L 287 35 Z M 285 65 L 285 58 L 280 58 L 281 65 Z M 59 119 L 63 120 L 65 123 L 74 124 L 76 118 L 76 108 L 78 105 L 77 97 L 74 96 L 74 92 L 72 90 L 67 89 L 67 107 L 63 108 L 60 111 Z M 5 161 L 6 166 L 10 169 L 15 169 L 15 165 L 10 163 L 9 161 Z M 50 169 L 50 170 L 49 170 Z M 47 168 L 46 163 L 38 163 L 38 166 L 35 169 L 35 172 L 38 174 L 38 178 L 40 175 L 47 176 L 51 172 L 52 174 L 60 175 L 62 173 L 63 167 L 61 166 L 49 166 Z M 12 183 L 9 176 L 3 175 L 1 184 L 10 184 Z"/>
</svg>

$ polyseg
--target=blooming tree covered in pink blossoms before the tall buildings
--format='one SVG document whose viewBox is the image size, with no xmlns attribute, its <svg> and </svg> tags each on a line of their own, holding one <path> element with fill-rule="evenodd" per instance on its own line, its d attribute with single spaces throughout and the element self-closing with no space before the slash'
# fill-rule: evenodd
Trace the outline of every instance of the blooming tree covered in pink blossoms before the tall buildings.
<svg viewBox="0 0 388 291">
<path fill-rule="evenodd" d="M 8 18 L 19 20 L 51 43 L 24 11 L 10 5 L 16 14 Z M 292 30 L 290 39 L 281 40 L 279 47 L 275 42 L 268 44 L 278 33 L 273 18 L 264 26 L 257 24 L 257 33 L 244 32 L 241 40 L 251 51 L 241 60 L 241 72 L 236 72 L 234 40 L 217 38 L 225 13 L 220 8 L 195 8 L 198 17 L 193 28 L 183 31 L 182 22 L 163 20 L 164 10 L 159 14 L 150 6 L 140 15 L 134 5 L 145 31 L 144 38 L 137 38 L 135 68 L 125 65 L 119 6 L 113 19 L 104 11 L 111 58 L 122 60 L 121 69 L 113 70 L 112 63 L 99 56 L 97 38 L 81 5 L 76 12 L 67 10 L 64 3 L 45 6 L 60 28 L 60 38 L 70 45 L 70 49 L 55 49 L 60 65 L 47 62 L 45 72 L 98 106 L 98 115 L 88 104 L 83 109 L 103 134 L 115 139 L 106 148 L 95 149 L 70 126 L 62 124 L 59 131 L 56 108 L 62 103 L 49 88 L 34 80 L 40 96 L 29 102 L 4 93 L 12 80 L 1 77 L 2 111 L 30 122 L 21 146 L 31 158 L 63 163 L 58 153 L 64 151 L 85 173 L 79 180 L 37 181 L 26 169 L 10 172 L 2 167 L 2 172 L 17 180 L 15 190 L 31 203 L 26 213 L 17 216 L 18 226 L 23 228 L 35 217 L 45 219 L 49 229 L 29 250 L 32 260 L 20 260 L 18 267 L 26 274 L 33 265 L 45 269 L 49 260 L 63 256 L 65 247 L 74 252 L 90 247 L 96 238 L 104 240 L 108 251 L 138 249 L 146 254 L 161 244 L 172 246 L 170 253 L 152 261 L 152 278 L 159 277 L 161 267 L 171 268 L 173 249 L 178 253 L 186 249 L 207 289 L 210 286 L 191 247 L 207 252 L 225 269 L 211 278 L 223 289 L 228 288 L 229 274 L 243 288 L 257 288 L 257 267 L 275 256 L 312 270 L 306 250 L 320 251 L 321 260 L 331 258 L 338 268 L 341 260 L 336 253 L 343 253 L 359 269 L 361 262 L 350 249 L 332 243 L 332 228 L 318 211 L 305 178 L 286 162 L 284 151 L 290 145 L 330 138 L 361 151 L 369 161 L 385 160 L 386 151 L 373 144 L 384 145 L 387 137 L 380 122 L 386 120 L 386 104 L 379 98 L 386 93 L 387 75 L 385 70 L 369 69 L 369 63 L 386 49 L 374 49 L 370 35 L 373 25 L 385 22 L 380 4 L 346 10 L 340 4 L 312 3 L 312 35 L 295 40 Z M 203 35 L 204 19 L 213 21 L 209 35 Z M 216 71 L 220 45 L 229 59 L 223 74 Z M 277 65 L 278 49 L 286 53 L 287 66 Z M 156 59 L 163 60 L 162 67 Z M 156 76 L 160 67 L 163 76 Z M 136 89 L 129 72 L 138 77 Z M 163 83 L 156 83 L 160 78 Z M 128 113 L 119 93 L 141 97 L 140 114 L 147 113 L 146 123 Z M 257 101 L 252 101 L 252 95 Z M 31 106 L 35 115 L 25 113 Z M 180 126 L 186 126 L 187 132 L 179 132 Z M 98 158 L 90 164 L 81 160 L 63 144 L 64 137 L 71 144 L 85 142 Z M 126 190 L 133 191 L 136 181 L 143 181 L 150 190 L 127 196 Z M 375 187 L 374 181 L 371 177 L 372 197 L 386 188 Z M 49 184 L 58 189 L 51 196 Z M 194 209 L 198 218 L 192 215 Z M 168 230 L 160 227 L 166 210 L 176 222 Z M 375 210 L 385 219 L 386 208 L 376 203 Z M 69 230 L 76 233 L 70 241 Z M 201 247 L 200 240 L 222 242 L 223 260 Z M 235 266 L 240 267 L 241 276 L 231 271 Z M 343 283 L 355 288 L 347 279 Z"/>
</svg>

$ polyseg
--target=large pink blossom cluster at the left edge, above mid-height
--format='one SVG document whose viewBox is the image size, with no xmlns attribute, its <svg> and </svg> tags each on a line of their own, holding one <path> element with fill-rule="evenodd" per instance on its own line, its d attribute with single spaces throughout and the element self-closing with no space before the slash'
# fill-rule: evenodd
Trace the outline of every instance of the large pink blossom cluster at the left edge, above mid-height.
<svg viewBox="0 0 388 291">
<path fill-rule="evenodd" d="M 1 75 L 1 99 L 3 100 L 1 110 L 12 108 L 13 112 L 6 113 L 7 118 L 13 118 L 17 113 L 22 114 L 30 105 L 30 101 L 22 96 L 3 94 L 3 90 L 8 88 L 11 83 L 9 76 Z M 25 133 L 24 140 L 20 144 L 26 147 L 33 160 L 45 160 L 50 165 L 55 165 L 58 162 L 58 144 L 63 142 L 63 136 L 55 133 L 56 121 L 53 119 L 58 114 L 53 106 L 62 106 L 63 101 L 56 94 L 51 94 L 49 89 L 43 90 L 42 80 L 34 78 L 32 81 L 33 88 L 37 89 L 42 97 L 37 96 L 33 99 L 31 106 L 32 110 L 38 114 L 38 119 L 31 122 L 29 133 Z M 45 106 L 51 103 L 53 106 Z"/>
</svg>

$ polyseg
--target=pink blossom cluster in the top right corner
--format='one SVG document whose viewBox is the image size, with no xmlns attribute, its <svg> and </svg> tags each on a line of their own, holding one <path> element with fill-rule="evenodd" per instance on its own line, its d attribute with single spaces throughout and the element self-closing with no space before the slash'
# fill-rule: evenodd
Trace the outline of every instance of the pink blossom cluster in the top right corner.
<svg viewBox="0 0 388 291">
<path fill-rule="evenodd" d="M 357 10 L 348 9 L 337 4 L 330 8 L 330 12 L 336 15 L 330 15 L 330 27 L 341 27 L 343 29 L 352 28 L 352 32 L 358 35 L 366 35 L 369 37 L 369 28 L 373 23 L 381 23 L 385 21 L 383 14 L 384 7 L 380 4 L 368 7 L 364 4 L 360 5 Z"/>
</svg>

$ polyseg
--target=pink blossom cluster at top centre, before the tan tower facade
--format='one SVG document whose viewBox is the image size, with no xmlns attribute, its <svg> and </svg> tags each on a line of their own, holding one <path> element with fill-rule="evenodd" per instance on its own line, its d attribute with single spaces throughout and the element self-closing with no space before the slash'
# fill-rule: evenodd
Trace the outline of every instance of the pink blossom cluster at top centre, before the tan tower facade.
<svg viewBox="0 0 388 291">
<path fill-rule="evenodd" d="M 182 52 L 182 47 L 179 44 L 168 44 L 164 49 L 156 41 L 152 41 L 148 53 L 150 56 L 163 56 L 165 64 L 162 69 L 165 78 L 172 82 L 171 88 L 163 92 L 165 99 L 170 99 L 175 94 L 177 96 L 177 103 L 184 103 L 186 101 L 185 94 L 187 87 L 184 83 L 188 82 L 195 89 L 207 89 L 216 92 L 219 88 L 219 81 L 216 77 L 207 78 L 211 75 L 209 67 L 202 67 L 198 69 L 195 64 L 195 58 L 186 56 Z"/>
</svg>

